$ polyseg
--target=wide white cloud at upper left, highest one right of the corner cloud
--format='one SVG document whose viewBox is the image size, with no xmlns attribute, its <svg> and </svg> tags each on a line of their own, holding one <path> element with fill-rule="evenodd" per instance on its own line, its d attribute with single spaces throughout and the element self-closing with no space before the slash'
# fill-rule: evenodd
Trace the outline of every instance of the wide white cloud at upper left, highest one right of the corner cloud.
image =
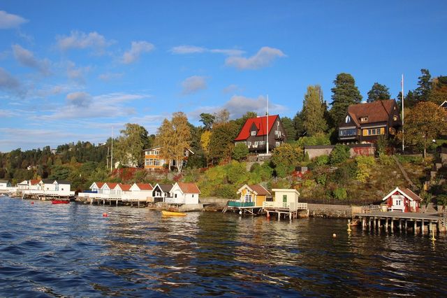
<svg viewBox="0 0 447 298">
<path fill-rule="evenodd" d="M 57 47 L 60 50 L 93 48 L 98 53 L 102 53 L 105 48 L 112 45 L 114 41 L 108 41 L 98 32 L 85 34 L 82 31 L 71 31 L 69 36 L 57 36 Z"/>
</svg>

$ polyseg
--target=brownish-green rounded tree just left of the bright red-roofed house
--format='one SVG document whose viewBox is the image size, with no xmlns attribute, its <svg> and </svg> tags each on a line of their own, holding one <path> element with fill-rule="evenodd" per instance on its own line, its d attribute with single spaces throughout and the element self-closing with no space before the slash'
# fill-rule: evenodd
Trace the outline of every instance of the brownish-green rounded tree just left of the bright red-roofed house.
<svg viewBox="0 0 447 298">
<path fill-rule="evenodd" d="M 235 137 L 239 132 L 234 121 L 214 125 L 210 138 L 210 158 L 212 163 L 231 156 Z"/>
</svg>

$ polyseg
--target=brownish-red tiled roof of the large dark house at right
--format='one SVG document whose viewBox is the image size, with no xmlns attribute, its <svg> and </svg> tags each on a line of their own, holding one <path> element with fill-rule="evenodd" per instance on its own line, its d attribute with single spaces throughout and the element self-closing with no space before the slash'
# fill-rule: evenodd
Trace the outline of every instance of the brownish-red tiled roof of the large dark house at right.
<svg viewBox="0 0 447 298">
<path fill-rule="evenodd" d="M 394 99 L 373 101 L 366 104 L 351 104 L 348 107 L 348 114 L 351 119 L 359 125 L 360 118 L 367 117 L 365 123 L 387 122 L 390 114 L 393 113 Z"/>
</svg>

